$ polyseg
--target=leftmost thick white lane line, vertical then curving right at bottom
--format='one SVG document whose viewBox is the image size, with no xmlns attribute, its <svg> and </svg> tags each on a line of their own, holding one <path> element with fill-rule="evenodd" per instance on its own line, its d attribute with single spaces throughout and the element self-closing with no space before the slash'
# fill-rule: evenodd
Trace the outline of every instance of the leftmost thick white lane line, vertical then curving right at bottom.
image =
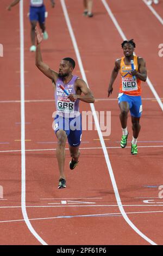
<svg viewBox="0 0 163 256">
<path fill-rule="evenodd" d="M 24 221 L 30 232 L 36 239 L 47 245 L 45 241 L 36 233 L 29 221 L 26 211 L 26 151 L 25 151 L 25 103 L 24 103 L 24 21 L 23 21 L 23 0 L 20 1 L 20 80 L 21 80 L 21 167 L 22 167 L 22 191 L 21 191 L 21 209 Z"/>
</svg>

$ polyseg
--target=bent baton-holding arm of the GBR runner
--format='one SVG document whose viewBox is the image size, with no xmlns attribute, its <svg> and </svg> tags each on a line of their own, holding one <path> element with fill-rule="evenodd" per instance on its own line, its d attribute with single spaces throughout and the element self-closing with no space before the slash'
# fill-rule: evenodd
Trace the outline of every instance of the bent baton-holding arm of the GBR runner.
<svg viewBox="0 0 163 256">
<path fill-rule="evenodd" d="M 82 79 L 76 80 L 76 87 L 82 92 L 84 95 L 79 94 L 70 94 L 68 99 L 71 101 L 76 101 L 77 99 L 82 100 L 87 103 L 94 103 L 95 98 L 91 92 L 91 90 L 87 87 L 86 83 Z"/>
</svg>

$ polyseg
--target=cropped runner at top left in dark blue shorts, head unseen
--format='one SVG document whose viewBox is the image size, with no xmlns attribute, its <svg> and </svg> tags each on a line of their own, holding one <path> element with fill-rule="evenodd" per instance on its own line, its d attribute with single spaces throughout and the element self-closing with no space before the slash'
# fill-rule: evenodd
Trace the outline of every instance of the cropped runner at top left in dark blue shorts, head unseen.
<svg viewBox="0 0 163 256">
<path fill-rule="evenodd" d="M 8 7 L 8 10 L 11 10 L 11 8 L 19 3 L 20 0 L 14 0 Z M 31 41 L 32 41 L 32 46 L 30 46 L 30 52 L 35 52 L 36 51 L 36 46 L 35 46 L 35 27 L 37 22 L 39 22 L 40 28 L 43 33 L 43 39 L 47 40 L 48 39 L 48 34 L 46 32 L 46 27 L 45 27 L 45 5 L 43 4 L 43 0 L 29 0 L 30 2 L 30 9 L 29 9 L 29 20 L 31 24 L 31 31 L 30 31 L 30 36 L 31 36 Z M 51 0 L 52 8 L 54 8 L 55 2 L 54 0 Z"/>
</svg>

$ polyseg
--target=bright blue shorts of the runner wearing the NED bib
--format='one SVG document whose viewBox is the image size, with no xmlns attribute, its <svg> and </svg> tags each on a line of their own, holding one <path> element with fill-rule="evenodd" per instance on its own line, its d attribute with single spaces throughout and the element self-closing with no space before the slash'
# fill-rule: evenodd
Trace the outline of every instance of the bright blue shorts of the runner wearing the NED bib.
<svg viewBox="0 0 163 256">
<path fill-rule="evenodd" d="M 120 102 L 122 101 L 127 101 L 129 103 L 130 114 L 132 117 L 141 117 L 141 114 L 142 114 L 141 96 L 130 96 L 127 94 L 122 94 L 120 97 L 118 97 L 118 104 L 120 104 Z"/>
</svg>

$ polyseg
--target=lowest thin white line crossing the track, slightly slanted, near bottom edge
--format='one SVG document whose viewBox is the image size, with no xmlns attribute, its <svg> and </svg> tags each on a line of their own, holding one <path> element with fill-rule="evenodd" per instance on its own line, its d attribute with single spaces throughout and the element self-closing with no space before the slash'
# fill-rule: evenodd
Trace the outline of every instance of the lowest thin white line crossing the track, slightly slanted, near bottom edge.
<svg viewBox="0 0 163 256">
<path fill-rule="evenodd" d="M 157 214 L 162 213 L 163 211 L 136 211 L 136 212 L 127 212 L 127 214 Z M 75 218 L 75 217 L 121 217 L 121 212 L 117 213 L 109 213 L 109 214 L 87 214 L 87 215 L 70 215 L 70 216 L 57 216 L 57 217 L 45 217 L 45 218 L 30 218 L 30 221 L 40 221 L 40 220 L 54 220 L 56 218 Z M 9 220 L 9 221 L 0 221 L 0 223 L 4 222 L 23 222 L 24 220 Z"/>
</svg>

